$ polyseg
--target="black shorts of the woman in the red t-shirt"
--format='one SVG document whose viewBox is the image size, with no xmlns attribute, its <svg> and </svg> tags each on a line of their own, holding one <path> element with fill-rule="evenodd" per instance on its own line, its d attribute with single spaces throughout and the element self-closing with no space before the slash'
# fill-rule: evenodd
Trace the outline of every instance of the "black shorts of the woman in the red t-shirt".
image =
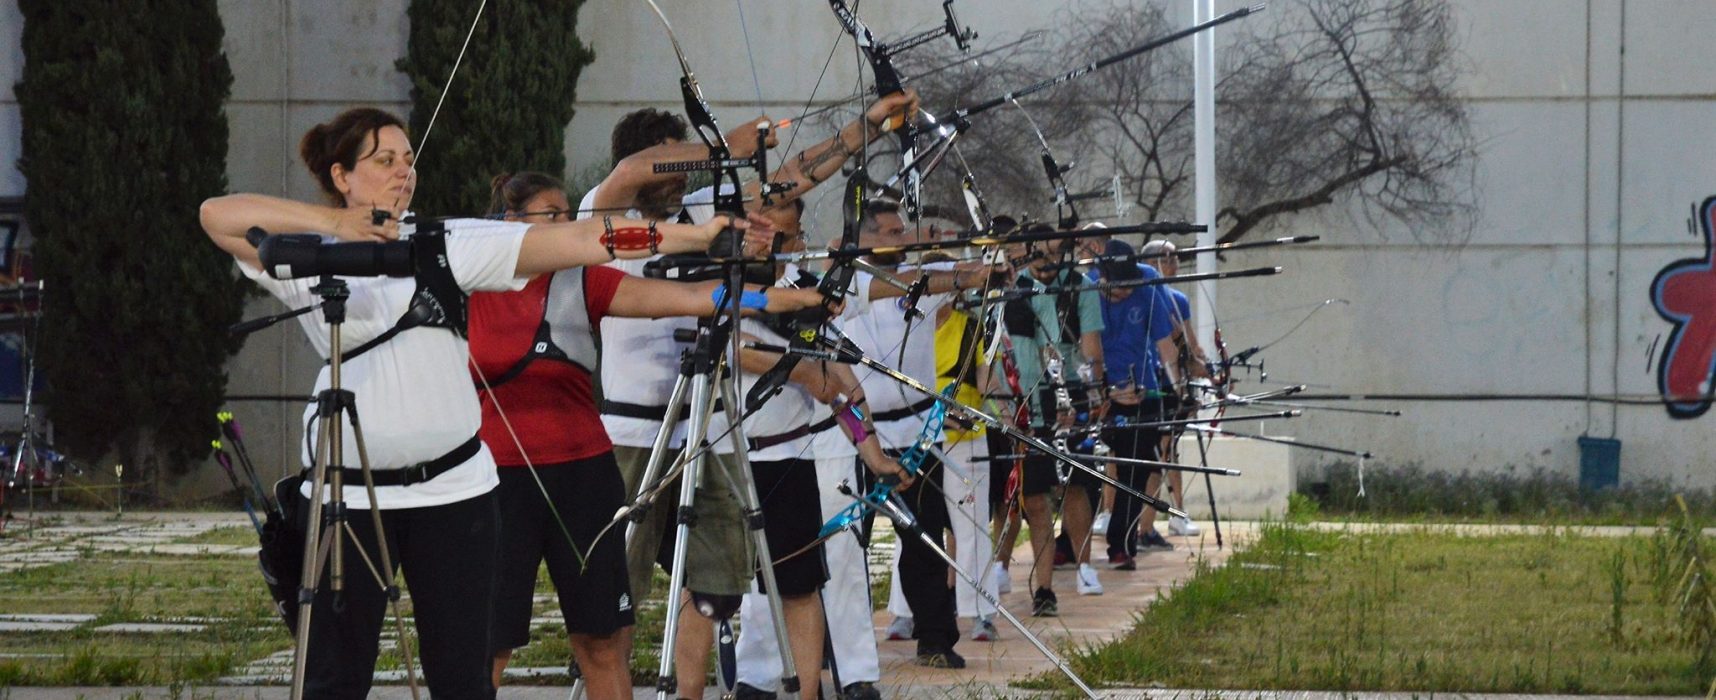
<svg viewBox="0 0 1716 700">
<path fill-rule="evenodd" d="M 631 626 L 631 590 L 626 580 L 625 528 L 614 527 L 590 551 L 625 503 L 625 482 L 614 453 L 558 465 L 537 465 L 542 486 L 523 467 L 501 467 L 501 552 L 494 580 L 494 618 L 489 645 L 518 649 L 530 642 L 537 566 L 546 559 L 559 594 L 566 631 L 606 637 Z M 571 542 L 554 520 L 542 492 L 571 532 Z M 573 551 L 577 546 L 577 552 Z M 589 551 L 585 561 L 578 556 Z M 475 604 L 475 602 L 474 602 Z"/>
</svg>

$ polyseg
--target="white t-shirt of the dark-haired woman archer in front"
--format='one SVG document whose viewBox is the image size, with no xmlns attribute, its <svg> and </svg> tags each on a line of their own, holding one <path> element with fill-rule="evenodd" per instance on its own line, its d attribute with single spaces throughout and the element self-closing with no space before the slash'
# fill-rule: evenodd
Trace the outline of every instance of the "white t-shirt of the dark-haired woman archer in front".
<svg viewBox="0 0 1716 700">
<path fill-rule="evenodd" d="M 467 292 L 511 292 L 529 281 L 517 278 L 518 249 L 525 223 L 453 220 L 446 221 L 446 252 L 453 278 Z M 410 237 L 415 226 L 402 225 L 400 237 Z M 317 278 L 275 280 L 257 268 L 239 262 L 239 269 L 287 307 L 299 309 L 321 300 L 311 287 Z M 352 297 L 347 300 L 345 324 L 340 326 L 340 347 L 350 352 L 359 345 L 393 328 L 410 307 L 417 281 L 412 278 L 345 278 Z M 328 323 L 323 314 L 299 316 L 299 324 L 323 359 L 329 355 Z M 465 340 L 443 328 L 414 328 L 369 352 L 350 359 L 340 371 L 341 388 L 352 391 L 357 415 L 364 425 L 364 446 L 369 450 L 369 467 L 390 470 L 417 465 L 446 455 L 477 434 L 482 410 L 477 389 L 472 388 L 467 369 L 470 352 Z M 329 367 L 316 374 L 319 393 L 329 384 Z M 311 425 L 302 448 L 302 460 L 311 463 L 314 444 L 316 405 L 304 410 Z M 345 467 L 359 467 L 357 439 L 350 420 L 343 427 Z M 376 501 L 381 510 L 424 508 L 463 501 L 494 489 L 494 456 L 484 446 L 475 456 L 441 475 L 412 486 L 379 486 Z M 309 484 L 304 496 L 309 496 Z M 369 508 L 364 482 L 347 479 L 345 501 L 350 508 Z"/>
</svg>

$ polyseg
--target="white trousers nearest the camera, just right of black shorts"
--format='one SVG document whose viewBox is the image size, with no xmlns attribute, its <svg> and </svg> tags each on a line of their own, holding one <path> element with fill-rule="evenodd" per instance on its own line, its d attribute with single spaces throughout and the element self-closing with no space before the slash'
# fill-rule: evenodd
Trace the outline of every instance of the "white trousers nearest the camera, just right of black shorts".
<svg viewBox="0 0 1716 700">
<path fill-rule="evenodd" d="M 817 460 L 817 491 L 822 494 L 822 516 L 832 518 L 853 503 L 834 487 L 846 480 L 855 492 L 863 491 L 856 479 L 858 460 L 841 456 Z M 822 609 L 834 642 L 834 664 L 841 683 L 875 683 L 882 679 L 882 662 L 875 652 L 875 628 L 870 619 L 870 571 L 865 551 L 851 528 L 829 537 L 822 544 L 829 564 L 829 582 L 822 587 Z M 740 606 L 740 683 L 762 690 L 781 688 L 781 647 L 774 638 L 774 618 L 769 599 L 755 592 L 745 594 Z M 805 681 L 805 679 L 801 679 Z"/>
</svg>

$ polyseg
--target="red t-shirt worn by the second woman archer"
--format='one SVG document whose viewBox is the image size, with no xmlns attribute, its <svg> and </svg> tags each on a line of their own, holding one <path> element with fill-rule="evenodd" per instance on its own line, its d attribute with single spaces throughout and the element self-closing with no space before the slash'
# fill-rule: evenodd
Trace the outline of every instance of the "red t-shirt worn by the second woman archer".
<svg viewBox="0 0 1716 700">
<path fill-rule="evenodd" d="M 599 266 L 583 268 L 583 307 L 590 314 L 590 328 L 601 328 L 619 280 L 626 275 Z M 489 381 L 505 374 L 530 350 L 547 307 L 551 278 L 553 275 L 537 275 L 518 292 L 470 295 L 470 357 Z M 532 465 L 553 465 L 613 450 L 590 389 L 590 372 L 582 367 L 539 357 L 517 377 L 496 386 L 492 396 L 482 391 L 475 372 L 472 381 L 482 398 L 482 429 L 477 434 L 501 467 L 523 467 L 525 455 Z M 513 432 L 501 422 L 503 410 L 518 443 L 513 443 Z M 518 451 L 520 444 L 523 453 Z"/>
</svg>

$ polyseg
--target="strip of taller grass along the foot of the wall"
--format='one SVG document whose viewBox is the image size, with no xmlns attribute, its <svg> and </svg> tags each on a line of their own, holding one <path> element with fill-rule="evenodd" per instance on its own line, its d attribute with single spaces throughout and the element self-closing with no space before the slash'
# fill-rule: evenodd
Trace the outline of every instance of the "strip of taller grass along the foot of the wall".
<svg viewBox="0 0 1716 700">
<path fill-rule="evenodd" d="M 1546 525 L 1658 525 L 1682 496 L 1689 511 L 1716 520 L 1716 491 L 1687 491 L 1663 479 L 1630 479 L 1613 489 L 1586 491 L 1579 480 L 1544 468 L 1443 472 L 1417 465 L 1368 467 L 1364 498 L 1354 463 L 1335 463 L 1323 482 L 1304 482 L 1296 508 L 1330 520 L 1491 522 Z"/>
</svg>

